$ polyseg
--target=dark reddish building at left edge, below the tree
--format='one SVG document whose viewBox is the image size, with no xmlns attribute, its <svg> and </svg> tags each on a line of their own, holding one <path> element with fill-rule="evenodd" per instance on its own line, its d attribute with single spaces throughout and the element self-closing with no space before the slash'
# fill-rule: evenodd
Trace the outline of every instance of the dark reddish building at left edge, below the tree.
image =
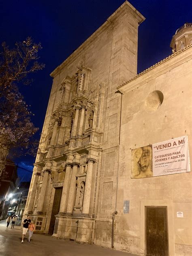
<svg viewBox="0 0 192 256">
<path fill-rule="evenodd" d="M 10 201 L 19 183 L 17 166 L 11 160 L 6 160 L 5 169 L 0 176 L 0 220 L 5 219 L 9 211 Z"/>
</svg>

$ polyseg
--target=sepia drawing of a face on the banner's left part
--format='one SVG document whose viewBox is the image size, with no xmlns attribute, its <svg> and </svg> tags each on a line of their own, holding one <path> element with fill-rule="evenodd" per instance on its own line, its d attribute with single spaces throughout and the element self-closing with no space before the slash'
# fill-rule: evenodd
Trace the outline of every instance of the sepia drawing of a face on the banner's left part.
<svg viewBox="0 0 192 256">
<path fill-rule="evenodd" d="M 151 145 L 132 149 L 132 178 L 145 178 L 153 176 L 152 147 Z"/>
</svg>

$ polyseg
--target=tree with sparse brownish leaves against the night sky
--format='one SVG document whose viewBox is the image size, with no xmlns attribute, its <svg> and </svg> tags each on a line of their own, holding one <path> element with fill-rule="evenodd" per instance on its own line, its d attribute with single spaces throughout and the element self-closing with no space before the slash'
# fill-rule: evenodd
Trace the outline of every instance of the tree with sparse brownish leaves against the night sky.
<svg viewBox="0 0 192 256">
<path fill-rule="evenodd" d="M 38 62 L 38 51 L 41 44 L 36 44 L 32 38 L 15 43 L 14 49 L 9 49 L 2 43 L 0 53 L 0 165 L 6 159 L 8 152 L 16 149 L 33 147 L 33 135 L 38 128 L 31 121 L 32 113 L 26 104 L 19 88 L 29 85 L 31 73 L 44 68 Z M 1 173 L 1 170 L 0 170 Z"/>
</svg>

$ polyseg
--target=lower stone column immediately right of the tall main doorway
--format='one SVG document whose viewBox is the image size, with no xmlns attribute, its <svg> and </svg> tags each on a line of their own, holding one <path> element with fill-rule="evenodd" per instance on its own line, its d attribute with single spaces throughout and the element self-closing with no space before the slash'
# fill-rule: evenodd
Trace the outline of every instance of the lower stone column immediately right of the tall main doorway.
<svg viewBox="0 0 192 256">
<path fill-rule="evenodd" d="M 62 190 L 62 196 L 61 196 L 60 211 L 59 211 L 59 214 L 61 215 L 66 212 L 70 171 L 71 171 L 71 167 L 73 166 L 72 161 L 73 161 L 73 155 L 70 154 L 70 156 L 68 156 L 67 163 L 66 163 L 65 179 L 63 183 L 63 190 Z"/>
</svg>

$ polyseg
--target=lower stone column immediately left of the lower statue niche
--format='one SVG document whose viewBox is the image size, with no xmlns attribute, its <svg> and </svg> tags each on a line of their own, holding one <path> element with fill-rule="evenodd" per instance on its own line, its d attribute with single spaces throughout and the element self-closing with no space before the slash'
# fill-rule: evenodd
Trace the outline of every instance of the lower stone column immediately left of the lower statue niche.
<svg viewBox="0 0 192 256">
<path fill-rule="evenodd" d="M 75 190 L 76 190 L 76 175 L 77 175 L 77 169 L 79 167 L 79 159 L 80 155 L 75 154 L 75 158 L 73 160 L 73 170 L 70 180 L 70 187 L 69 187 L 69 194 L 68 194 L 68 202 L 67 202 L 67 209 L 66 213 L 73 213 L 73 207 L 74 207 L 74 201 L 75 201 Z"/>
</svg>

